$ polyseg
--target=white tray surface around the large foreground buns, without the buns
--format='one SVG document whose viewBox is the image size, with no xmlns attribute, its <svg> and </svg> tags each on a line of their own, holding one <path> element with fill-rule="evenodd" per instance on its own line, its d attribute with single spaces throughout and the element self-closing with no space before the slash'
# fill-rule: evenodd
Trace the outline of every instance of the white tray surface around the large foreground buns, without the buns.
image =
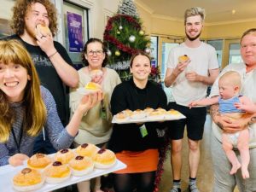
<svg viewBox="0 0 256 192">
<path fill-rule="evenodd" d="M 26 167 L 26 164 L 24 166 L 0 166 L 0 191 L 1 192 L 17 192 L 15 189 L 12 187 L 12 179 L 15 177 L 15 174 L 20 172 L 23 168 Z M 108 174 L 110 172 L 115 172 L 121 169 L 124 169 L 126 165 L 122 163 L 120 160 L 117 160 L 114 164 L 114 166 L 108 168 L 108 169 L 96 169 L 84 176 L 81 177 L 76 177 L 76 176 L 71 176 L 70 178 L 67 179 L 67 181 L 64 181 L 62 183 L 57 183 L 57 184 L 49 184 L 49 183 L 44 183 L 43 187 L 40 189 L 37 189 L 37 192 L 48 192 L 48 191 L 53 191 L 55 189 L 60 189 L 63 187 L 66 187 L 68 185 L 74 184 L 74 183 L 79 183 L 81 181 L 86 181 L 90 180 L 93 177 L 99 177 L 105 174 Z"/>
</svg>

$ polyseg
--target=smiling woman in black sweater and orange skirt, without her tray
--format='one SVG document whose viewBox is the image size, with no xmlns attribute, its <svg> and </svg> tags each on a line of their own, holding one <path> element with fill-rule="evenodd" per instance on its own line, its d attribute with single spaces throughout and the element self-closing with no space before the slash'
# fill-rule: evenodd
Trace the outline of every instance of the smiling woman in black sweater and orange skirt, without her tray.
<svg viewBox="0 0 256 192">
<path fill-rule="evenodd" d="M 130 109 L 166 108 L 166 94 L 157 84 L 148 80 L 151 72 L 150 57 L 137 52 L 131 57 L 132 78 L 118 84 L 111 97 L 113 115 Z M 113 174 L 115 192 L 152 192 L 158 166 L 160 137 L 164 122 L 114 124 L 108 148 L 127 167 Z"/>
</svg>

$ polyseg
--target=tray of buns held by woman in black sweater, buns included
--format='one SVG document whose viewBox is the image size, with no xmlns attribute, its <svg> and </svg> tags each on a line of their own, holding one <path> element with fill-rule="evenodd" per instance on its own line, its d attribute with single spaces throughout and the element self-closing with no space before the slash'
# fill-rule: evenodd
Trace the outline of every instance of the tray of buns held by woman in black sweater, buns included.
<svg viewBox="0 0 256 192">
<path fill-rule="evenodd" d="M 131 111 L 125 109 L 120 113 L 113 116 L 113 124 L 131 124 L 131 123 L 144 123 L 153 121 L 166 121 L 177 120 L 186 118 L 182 113 L 177 110 L 170 109 L 166 111 L 164 108 L 145 108 L 144 110 L 137 109 Z"/>
</svg>

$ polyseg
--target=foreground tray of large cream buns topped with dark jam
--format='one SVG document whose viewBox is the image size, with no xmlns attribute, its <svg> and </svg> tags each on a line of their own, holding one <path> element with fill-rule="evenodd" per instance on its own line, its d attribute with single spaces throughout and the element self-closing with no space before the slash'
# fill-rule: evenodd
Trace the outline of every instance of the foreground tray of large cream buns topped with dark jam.
<svg viewBox="0 0 256 192">
<path fill-rule="evenodd" d="M 0 166 L 1 192 L 52 191 L 125 167 L 111 150 L 84 143 L 55 154 L 34 154 L 23 166 Z"/>
</svg>

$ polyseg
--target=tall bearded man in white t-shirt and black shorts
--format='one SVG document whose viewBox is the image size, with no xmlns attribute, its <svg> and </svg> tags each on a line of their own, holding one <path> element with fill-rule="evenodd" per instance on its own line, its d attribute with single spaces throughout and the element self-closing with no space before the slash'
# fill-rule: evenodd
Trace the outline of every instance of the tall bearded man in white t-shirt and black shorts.
<svg viewBox="0 0 256 192">
<path fill-rule="evenodd" d="M 185 11 L 184 26 L 187 38 L 183 44 L 170 51 L 167 61 L 165 84 L 166 87 L 172 86 L 173 96 L 169 108 L 177 109 L 187 117 L 170 122 L 173 174 L 171 192 L 181 191 L 182 140 L 185 125 L 189 138 L 189 191 L 199 191 L 195 181 L 207 109 L 189 109 L 188 105 L 191 101 L 207 96 L 207 86 L 214 82 L 219 72 L 216 50 L 200 40 L 204 19 L 204 9 L 190 8 Z M 181 55 L 188 55 L 189 61 L 179 62 L 178 57 Z"/>
</svg>

